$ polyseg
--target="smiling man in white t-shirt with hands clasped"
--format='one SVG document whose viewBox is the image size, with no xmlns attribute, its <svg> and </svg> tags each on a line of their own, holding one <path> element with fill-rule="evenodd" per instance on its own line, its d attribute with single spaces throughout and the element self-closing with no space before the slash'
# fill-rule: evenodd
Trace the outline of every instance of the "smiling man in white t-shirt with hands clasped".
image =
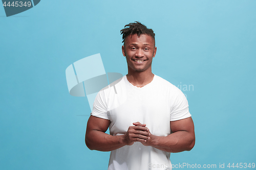
<svg viewBox="0 0 256 170">
<path fill-rule="evenodd" d="M 152 73 L 155 34 L 140 22 L 121 30 L 128 74 L 102 89 L 88 120 L 90 150 L 111 151 L 109 169 L 172 169 L 170 153 L 195 144 L 184 94 Z M 105 131 L 110 128 L 110 135 Z"/>
</svg>

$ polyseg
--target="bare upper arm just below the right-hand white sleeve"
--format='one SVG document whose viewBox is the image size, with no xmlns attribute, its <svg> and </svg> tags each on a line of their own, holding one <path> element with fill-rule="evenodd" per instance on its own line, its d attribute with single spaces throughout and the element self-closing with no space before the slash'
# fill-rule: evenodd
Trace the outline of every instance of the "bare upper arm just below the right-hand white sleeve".
<svg viewBox="0 0 256 170">
<path fill-rule="evenodd" d="M 170 130 L 173 133 L 177 131 L 187 131 L 190 133 L 195 133 L 194 123 L 191 117 L 187 117 L 176 121 L 170 121 Z"/>
</svg>

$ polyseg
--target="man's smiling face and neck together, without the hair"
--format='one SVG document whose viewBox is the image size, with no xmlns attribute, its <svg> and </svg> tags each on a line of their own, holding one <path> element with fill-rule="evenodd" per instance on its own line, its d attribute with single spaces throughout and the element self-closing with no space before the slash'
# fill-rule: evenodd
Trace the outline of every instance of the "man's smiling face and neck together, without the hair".
<svg viewBox="0 0 256 170">
<path fill-rule="evenodd" d="M 151 36 L 146 34 L 129 35 L 122 45 L 122 54 L 126 57 L 128 74 L 127 80 L 135 86 L 143 87 L 150 83 L 154 74 L 152 73 L 152 60 L 156 56 L 157 47 Z M 143 60 L 136 62 L 134 60 Z"/>
</svg>

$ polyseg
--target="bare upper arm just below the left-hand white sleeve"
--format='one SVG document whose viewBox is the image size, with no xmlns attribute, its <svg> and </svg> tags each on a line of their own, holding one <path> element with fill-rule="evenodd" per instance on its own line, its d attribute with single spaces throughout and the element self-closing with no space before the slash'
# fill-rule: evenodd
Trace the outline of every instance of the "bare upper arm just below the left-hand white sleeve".
<svg viewBox="0 0 256 170">
<path fill-rule="evenodd" d="M 106 130 L 108 130 L 109 126 L 110 120 L 91 115 L 87 122 L 87 131 L 97 130 L 105 132 Z"/>
</svg>

